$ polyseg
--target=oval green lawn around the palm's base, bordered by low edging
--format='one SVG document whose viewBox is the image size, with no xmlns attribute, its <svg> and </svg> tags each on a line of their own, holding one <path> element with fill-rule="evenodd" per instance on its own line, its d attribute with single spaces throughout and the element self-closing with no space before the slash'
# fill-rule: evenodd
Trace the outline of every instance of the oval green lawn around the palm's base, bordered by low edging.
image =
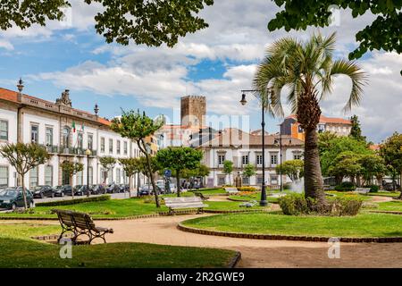
<svg viewBox="0 0 402 286">
<path fill-rule="evenodd" d="M 184 222 L 214 231 L 344 237 L 402 236 L 402 215 L 291 216 L 284 214 L 219 214 Z"/>
</svg>

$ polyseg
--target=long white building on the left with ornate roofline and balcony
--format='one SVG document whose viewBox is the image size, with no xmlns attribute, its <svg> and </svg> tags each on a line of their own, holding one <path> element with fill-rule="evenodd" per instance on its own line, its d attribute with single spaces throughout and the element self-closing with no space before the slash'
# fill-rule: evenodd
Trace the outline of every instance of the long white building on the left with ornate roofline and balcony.
<svg viewBox="0 0 402 286">
<path fill-rule="evenodd" d="M 22 89 L 22 88 L 21 88 Z M 119 158 L 139 156 L 137 145 L 113 132 L 111 122 L 96 114 L 71 107 L 69 91 L 55 103 L 0 88 L 0 145 L 35 142 L 46 147 L 51 159 L 29 171 L 24 178 L 28 188 L 38 185 L 82 185 L 96 183 L 129 183 L 118 163 Z M 91 156 L 85 151 L 89 149 Z M 99 164 L 100 156 L 112 156 L 116 164 L 107 177 Z M 82 172 L 70 180 L 63 173 L 63 161 L 84 164 Z M 88 179 L 87 179 L 88 178 Z M 138 178 L 132 178 L 136 187 Z M 21 185 L 13 166 L 0 156 L 0 188 Z"/>
</svg>

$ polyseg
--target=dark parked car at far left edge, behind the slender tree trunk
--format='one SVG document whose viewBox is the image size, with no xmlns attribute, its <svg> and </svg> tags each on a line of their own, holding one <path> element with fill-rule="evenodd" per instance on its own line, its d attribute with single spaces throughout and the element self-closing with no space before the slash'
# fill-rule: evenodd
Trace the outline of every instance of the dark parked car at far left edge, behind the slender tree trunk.
<svg viewBox="0 0 402 286">
<path fill-rule="evenodd" d="M 29 207 L 33 207 L 34 199 L 29 189 L 25 189 L 27 196 L 27 204 Z M 22 188 L 7 188 L 0 190 L 0 208 L 16 209 L 17 207 L 23 207 L 24 198 L 22 196 Z"/>
</svg>

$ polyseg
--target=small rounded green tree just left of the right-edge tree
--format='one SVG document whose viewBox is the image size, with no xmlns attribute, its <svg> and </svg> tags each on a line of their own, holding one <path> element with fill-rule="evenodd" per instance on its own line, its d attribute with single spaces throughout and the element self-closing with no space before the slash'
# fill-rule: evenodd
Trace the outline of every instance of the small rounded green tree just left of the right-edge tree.
<svg viewBox="0 0 402 286">
<path fill-rule="evenodd" d="M 362 166 L 364 183 L 370 184 L 375 177 L 381 186 L 382 178 L 388 173 L 384 159 L 376 154 L 367 154 L 360 158 L 359 163 Z"/>
</svg>

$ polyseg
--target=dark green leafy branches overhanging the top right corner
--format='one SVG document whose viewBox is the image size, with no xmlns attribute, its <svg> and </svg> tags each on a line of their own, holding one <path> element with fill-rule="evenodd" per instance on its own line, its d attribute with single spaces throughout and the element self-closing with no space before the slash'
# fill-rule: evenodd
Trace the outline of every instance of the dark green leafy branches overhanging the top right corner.
<svg viewBox="0 0 402 286">
<path fill-rule="evenodd" d="M 360 42 L 349 59 L 358 59 L 368 49 L 371 51 L 385 50 L 402 52 L 400 40 L 400 23 L 402 21 L 401 1 L 379 1 L 379 0 L 274 0 L 278 6 L 284 5 L 284 10 L 276 13 L 274 19 L 269 21 L 268 29 L 275 30 L 285 28 L 306 29 L 308 26 L 325 27 L 331 24 L 331 5 L 338 5 L 342 9 L 350 9 L 353 18 L 373 13 L 377 18 L 371 25 L 356 34 L 356 41 Z M 402 72 L 402 71 L 401 71 Z"/>
</svg>

